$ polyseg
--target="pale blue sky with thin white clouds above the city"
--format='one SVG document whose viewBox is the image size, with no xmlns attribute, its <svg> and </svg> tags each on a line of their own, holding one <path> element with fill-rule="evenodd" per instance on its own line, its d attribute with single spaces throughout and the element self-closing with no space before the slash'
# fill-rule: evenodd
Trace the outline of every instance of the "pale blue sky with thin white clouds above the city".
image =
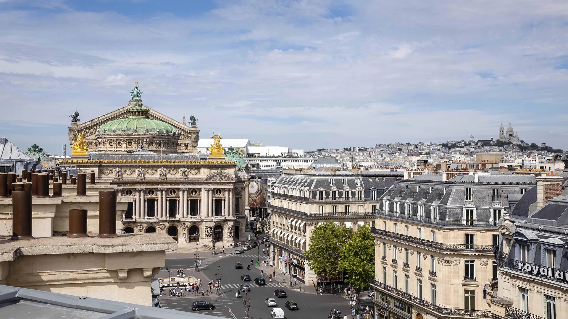
<svg viewBox="0 0 568 319">
<path fill-rule="evenodd" d="M 0 0 L 0 136 L 60 154 L 139 82 L 203 138 L 566 150 L 567 49 L 566 1 Z"/>
</svg>

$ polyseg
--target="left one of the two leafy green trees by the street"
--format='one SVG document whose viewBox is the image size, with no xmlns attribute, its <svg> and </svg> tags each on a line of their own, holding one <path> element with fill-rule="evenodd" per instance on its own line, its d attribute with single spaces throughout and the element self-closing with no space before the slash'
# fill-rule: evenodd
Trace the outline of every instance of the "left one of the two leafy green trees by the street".
<svg viewBox="0 0 568 319">
<path fill-rule="evenodd" d="M 349 241 L 352 231 L 345 225 L 336 226 L 333 221 L 317 226 L 312 230 L 310 249 L 304 255 L 308 266 L 316 274 L 325 272 L 331 281 L 333 292 L 333 276 L 343 270 L 340 264 L 341 251 Z"/>
</svg>

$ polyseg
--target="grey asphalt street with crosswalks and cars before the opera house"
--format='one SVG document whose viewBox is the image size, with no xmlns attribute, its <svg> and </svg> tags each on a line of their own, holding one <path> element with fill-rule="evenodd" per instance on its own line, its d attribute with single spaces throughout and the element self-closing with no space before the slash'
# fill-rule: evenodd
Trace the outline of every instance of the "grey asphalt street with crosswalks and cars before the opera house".
<svg viewBox="0 0 568 319">
<path fill-rule="evenodd" d="M 256 251 L 254 251 L 256 253 Z M 173 255 L 173 254 L 170 254 Z M 219 317 L 227 318 L 243 318 L 245 314 L 245 309 L 243 307 L 243 299 L 245 296 L 250 299 L 250 310 L 249 317 L 255 319 L 267 319 L 270 318 L 270 310 L 272 308 L 282 308 L 284 314 L 287 318 L 327 318 L 327 314 L 332 309 L 339 309 L 341 311 L 341 316 L 344 314 L 350 314 L 348 301 L 340 295 L 316 295 L 315 288 L 313 291 L 311 287 L 308 287 L 308 292 L 296 291 L 295 289 L 287 288 L 284 283 L 279 283 L 273 280 L 270 282 L 268 275 L 272 274 L 272 267 L 252 267 L 251 270 L 247 270 L 247 265 L 250 263 L 250 259 L 257 261 L 257 254 L 253 254 L 253 250 L 245 251 L 244 254 L 235 255 L 227 254 L 216 255 L 212 257 L 211 254 L 203 253 L 201 254 L 202 259 L 202 271 L 195 272 L 194 269 L 194 258 L 193 253 L 186 254 L 175 254 L 176 259 L 168 258 L 166 256 L 166 266 L 172 270 L 172 274 L 175 276 L 176 271 L 179 267 L 186 268 L 185 274 L 189 276 L 196 276 L 201 278 L 202 287 L 206 288 L 208 280 L 215 279 L 215 273 L 218 271 L 218 265 L 220 266 L 221 272 L 221 296 L 216 295 L 215 289 L 211 291 L 211 295 L 207 296 L 195 296 L 193 293 L 189 297 L 168 297 L 167 289 L 165 289 L 165 295 L 160 297 L 160 303 L 164 308 L 178 309 L 181 311 L 192 311 L 191 304 L 197 300 L 207 301 L 208 303 L 215 304 L 215 309 L 213 310 L 200 310 L 199 313 L 211 314 Z M 178 257 L 179 256 L 179 257 Z M 261 254 L 261 261 L 263 255 Z M 266 255 L 264 255 L 266 258 Z M 241 262 L 244 269 L 235 269 L 235 263 Z M 254 278 L 260 276 L 260 269 L 264 269 L 264 278 L 266 280 L 266 286 L 257 286 L 254 284 Z M 276 269 L 278 272 L 278 269 Z M 252 279 L 250 282 L 246 282 L 250 286 L 250 292 L 241 292 L 241 298 L 235 297 L 235 292 L 238 287 L 243 282 L 240 280 L 241 274 L 249 274 Z M 167 277 L 165 270 L 161 270 L 158 277 Z M 286 288 L 285 288 L 286 286 Z M 201 291 L 201 288 L 199 288 Z M 268 297 L 275 297 L 275 289 L 284 289 L 286 291 L 287 297 L 275 298 L 277 300 L 277 307 L 268 307 L 265 304 L 265 299 Z M 284 303 L 287 300 L 294 300 L 298 303 L 299 310 L 288 310 Z"/>
</svg>

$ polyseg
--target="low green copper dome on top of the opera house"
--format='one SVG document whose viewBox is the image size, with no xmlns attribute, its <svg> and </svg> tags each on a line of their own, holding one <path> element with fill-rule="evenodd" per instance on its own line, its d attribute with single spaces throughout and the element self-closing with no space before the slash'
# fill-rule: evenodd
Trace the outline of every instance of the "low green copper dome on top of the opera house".
<svg viewBox="0 0 568 319">
<path fill-rule="evenodd" d="M 148 129 L 150 133 L 156 131 L 165 133 L 166 130 L 169 133 L 176 131 L 176 128 L 168 123 L 150 119 L 148 116 L 149 111 L 150 110 L 147 108 L 133 106 L 128 109 L 128 116 L 126 118 L 110 121 L 101 125 L 99 132 L 111 132 L 112 129 L 116 132 L 120 132 L 122 129 L 125 129 L 126 132 L 132 132 L 136 129 L 139 133 L 144 132 L 146 129 Z"/>
</svg>

